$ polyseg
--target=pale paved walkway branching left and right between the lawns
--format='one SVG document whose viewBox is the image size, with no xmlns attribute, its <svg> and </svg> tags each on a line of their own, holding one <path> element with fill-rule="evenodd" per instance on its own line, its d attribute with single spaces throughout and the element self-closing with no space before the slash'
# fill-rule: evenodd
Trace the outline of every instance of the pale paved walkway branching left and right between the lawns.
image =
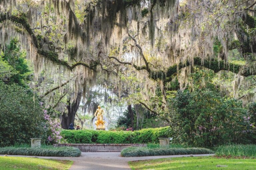
<svg viewBox="0 0 256 170">
<path fill-rule="evenodd" d="M 193 156 L 211 156 L 214 154 L 202 154 Z M 0 155 L 3 156 L 3 155 Z M 8 155 L 21 156 L 21 155 Z M 120 152 L 82 152 L 80 157 L 47 157 L 47 156 L 22 156 L 37 157 L 44 159 L 66 159 L 73 160 L 74 164 L 70 170 L 130 170 L 128 161 L 188 157 L 190 155 L 166 155 L 166 156 L 143 156 L 143 157 L 121 157 Z"/>
</svg>

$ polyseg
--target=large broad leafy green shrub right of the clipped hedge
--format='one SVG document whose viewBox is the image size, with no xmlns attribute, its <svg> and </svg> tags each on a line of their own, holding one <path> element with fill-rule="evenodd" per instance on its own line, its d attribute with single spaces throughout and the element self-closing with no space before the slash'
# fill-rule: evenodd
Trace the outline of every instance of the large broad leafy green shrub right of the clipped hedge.
<svg viewBox="0 0 256 170">
<path fill-rule="evenodd" d="M 174 140 L 193 146 L 213 146 L 232 142 L 248 142 L 246 110 L 235 99 L 221 97 L 209 89 L 178 91 L 169 99 L 169 117 Z"/>
</svg>

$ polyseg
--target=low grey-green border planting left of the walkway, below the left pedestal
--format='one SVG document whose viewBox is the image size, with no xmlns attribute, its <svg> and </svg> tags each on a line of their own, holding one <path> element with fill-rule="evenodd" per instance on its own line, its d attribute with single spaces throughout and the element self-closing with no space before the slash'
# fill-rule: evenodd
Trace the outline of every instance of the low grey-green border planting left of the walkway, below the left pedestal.
<svg viewBox="0 0 256 170">
<path fill-rule="evenodd" d="M 48 148 L 0 147 L 0 154 L 79 157 L 81 155 L 81 151 L 75 147 L 48 147 Z"/>
</svg>

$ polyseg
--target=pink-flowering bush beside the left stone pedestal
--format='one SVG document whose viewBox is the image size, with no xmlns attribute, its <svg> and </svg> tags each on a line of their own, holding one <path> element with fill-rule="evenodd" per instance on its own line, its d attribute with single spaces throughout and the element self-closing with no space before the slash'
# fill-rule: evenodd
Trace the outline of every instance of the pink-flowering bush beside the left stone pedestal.
<svg viewBox="0 0 256 170">
<path fill-rule="evenodd" d="M 43 103 L 40 102 L 40 105 L 43 107 Z M 51 108 L 48 106 L 47 108 L 43 109 L 44 111 L 44 119 L 46 120 L 46 126 L 44 128 L 48 129 L 48 142 L 50 143 L 61 143 L 62 136 L 60 135 L 60 123 L 57 121 L 54 121 L 50 115 L 48 114 L 48 110 L 51 110 Z"/>
</svg>

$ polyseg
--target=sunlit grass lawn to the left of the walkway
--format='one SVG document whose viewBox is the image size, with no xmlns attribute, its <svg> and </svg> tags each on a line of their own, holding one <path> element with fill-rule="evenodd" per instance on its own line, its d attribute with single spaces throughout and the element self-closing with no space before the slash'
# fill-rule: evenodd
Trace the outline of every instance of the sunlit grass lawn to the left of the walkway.
<svg viewBox="0 0 256 170">
<path fill-rule="evenodd" d="M 53 160 L 25 157 L 0 157 L 1 170 L 68 170 L 73 164 L 69 160 Z"/>
</svg>

